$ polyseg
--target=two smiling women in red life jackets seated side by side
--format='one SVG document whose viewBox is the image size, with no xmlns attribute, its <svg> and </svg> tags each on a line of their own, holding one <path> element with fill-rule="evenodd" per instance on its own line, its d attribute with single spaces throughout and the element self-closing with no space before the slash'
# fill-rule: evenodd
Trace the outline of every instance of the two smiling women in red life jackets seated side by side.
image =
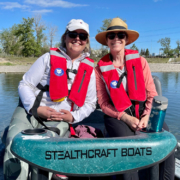
<svg viewBox="0 0 180 180">
<path fill-rule="evenodd" d="M 28 164 L 10 151 L 16 134 L 24 129 L 45 127 L 61 137 L 68 137 L 68 130 L 74 135 L 72 124 L 88 117 L 95 110 L 97 99 L 110 137 L 134 136 L 147 126 L 157 92 L 146 59 L 138 51 L 125 49 L 138 37 L 139 33 L 129 30 L 120 18 L 112 19 L 107 30 L 96 35 L 96 40 L 108 46 L 110 53 L 94 68 L 94 61 L 89 58 L 89 25 L 80 19 L 67 24 L 61 46 L 38 58 L 19 83 L 20 103 L 6 141 L 6 180 L 28 177 Z M 163 128 L 168 130 L 165 123 Z M 161 179 L 174 179 L 173 162 L 172 155 L 160 164 Z M 52 177 L 62 178 L 66 177 Z M 117 179 L 139 177 L 134 172 L 118 175 Z"/>
</svg>

